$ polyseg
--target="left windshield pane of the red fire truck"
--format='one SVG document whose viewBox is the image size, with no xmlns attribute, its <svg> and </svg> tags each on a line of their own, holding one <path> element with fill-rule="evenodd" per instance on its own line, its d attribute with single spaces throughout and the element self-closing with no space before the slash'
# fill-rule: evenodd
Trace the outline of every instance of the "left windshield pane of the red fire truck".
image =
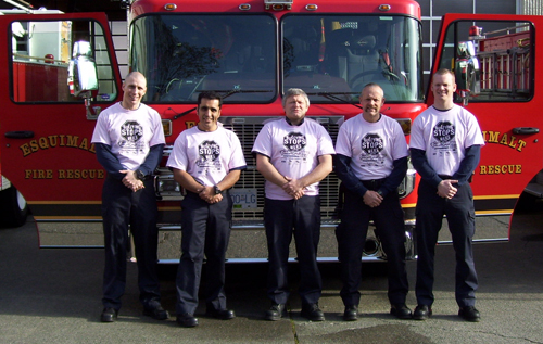
<svg viewBox="0 0 543 344">
<path fill-rule="evenodd" d="M 147 101 L 194 103 L 204 90 L 228 102 L 277 97 L 276 21 L 263 15 L 148 15 L 131 26 L 132 69 L 147 76 Z"/>
</svg>

